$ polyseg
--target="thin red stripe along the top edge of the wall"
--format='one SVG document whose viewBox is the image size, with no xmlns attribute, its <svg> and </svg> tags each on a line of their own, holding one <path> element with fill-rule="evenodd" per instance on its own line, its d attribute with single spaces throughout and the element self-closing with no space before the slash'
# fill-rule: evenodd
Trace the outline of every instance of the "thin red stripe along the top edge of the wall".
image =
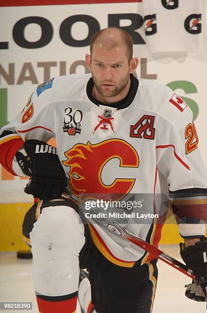
<svg viewBox="0 0 207 313">
<path fill-rule="evenodd" d="M 0 3 L 0 7 L 54 6 L 130 2 L 142 2 L 142 0 L 2 0 Z"/>
</svg>

